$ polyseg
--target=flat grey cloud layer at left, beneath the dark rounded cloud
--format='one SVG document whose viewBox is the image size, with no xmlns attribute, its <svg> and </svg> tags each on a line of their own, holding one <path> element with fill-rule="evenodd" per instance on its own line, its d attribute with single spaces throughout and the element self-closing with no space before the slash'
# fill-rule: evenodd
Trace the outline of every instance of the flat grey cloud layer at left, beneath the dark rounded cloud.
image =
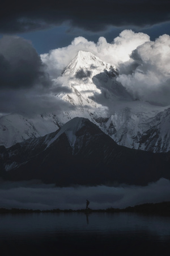
<svg viewBox="0 0 170 256">
<path fill-rule="evenodd" d="M 0 112 L 3 115 L 18 113 L 32 118 L 37 114 L 58 114 L 68 109 L 74 109 L 74 106 L 44 90 L 3 90 L 0 93 Z"/>
</svg>

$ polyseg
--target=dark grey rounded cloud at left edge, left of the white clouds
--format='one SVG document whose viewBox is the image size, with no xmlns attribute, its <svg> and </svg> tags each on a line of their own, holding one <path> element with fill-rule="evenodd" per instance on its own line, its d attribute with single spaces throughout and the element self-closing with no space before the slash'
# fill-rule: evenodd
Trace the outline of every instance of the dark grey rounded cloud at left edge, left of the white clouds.
<svg viewBox="0 0 170 256">
<path fill-rule="evenodd" d="M 0 88 L 49 85 L 48 74 L 32 44 L 17 36 L 0 39 Z"/>
</svg>

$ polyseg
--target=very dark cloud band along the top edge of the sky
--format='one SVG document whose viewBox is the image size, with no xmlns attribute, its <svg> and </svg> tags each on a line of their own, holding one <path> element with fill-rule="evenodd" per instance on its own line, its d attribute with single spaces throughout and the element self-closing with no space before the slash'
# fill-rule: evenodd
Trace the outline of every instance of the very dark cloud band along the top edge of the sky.
<svg viewBox="0 0 170 256">
<path fill-rule="evenodd" d="M 151 26 L 169 20 L 169 1 L 86 0 L 3 2 L 0 31 L 25 32 L 69 22 L 71 26 L 101 31 L 107 26 Z"/>
</svg>

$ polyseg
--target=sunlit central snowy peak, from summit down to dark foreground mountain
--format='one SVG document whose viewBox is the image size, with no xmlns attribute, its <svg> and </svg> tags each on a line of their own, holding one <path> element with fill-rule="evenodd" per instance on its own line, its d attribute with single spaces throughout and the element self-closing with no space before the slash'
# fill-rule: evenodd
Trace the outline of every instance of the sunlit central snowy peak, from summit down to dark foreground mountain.
<svg viewBox="0 0 170 256">
<path fill-rule="evenodd" d="M 56 84 L 69 86 L 71 92 L 57 94 L 57 97 L 76 106 L 69 112 L 70 118 L 81 116 L 94 121 L 94 117 L 107 117 L 108 106 L 113 101 L 131 100 L 126 89 L 116 81 L 117 75 L 116 67 L 91 52 L 79 51 L 62 76 L 55 80 Z"/>
</svg>

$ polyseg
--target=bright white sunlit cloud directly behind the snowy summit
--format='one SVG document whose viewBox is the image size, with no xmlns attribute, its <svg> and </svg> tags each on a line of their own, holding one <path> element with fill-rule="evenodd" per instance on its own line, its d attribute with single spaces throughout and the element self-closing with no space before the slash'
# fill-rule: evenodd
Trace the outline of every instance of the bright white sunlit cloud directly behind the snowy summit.
<svg viewBox="0 0 170 256">
<path fill-rule="evenodd" d="M 90 51 L 101 60 L 116 65 L 130 59 L 131 52 L 141 44 L 150 41 L 150 37 L 143 33 L 135 33 L 132 30 L 124 30 L 112 43 L 108 43 L 104 37 L 100 37 L 95 44 L 86 38 L 79 36 L 67 47 L 53 49 L 49 53 L 42 54 L 42 62 L 46 64 L 47 72 L 52 79 L 56 79 L 63 69 L 74 59 L 78 51 Z"/>
</svg>

